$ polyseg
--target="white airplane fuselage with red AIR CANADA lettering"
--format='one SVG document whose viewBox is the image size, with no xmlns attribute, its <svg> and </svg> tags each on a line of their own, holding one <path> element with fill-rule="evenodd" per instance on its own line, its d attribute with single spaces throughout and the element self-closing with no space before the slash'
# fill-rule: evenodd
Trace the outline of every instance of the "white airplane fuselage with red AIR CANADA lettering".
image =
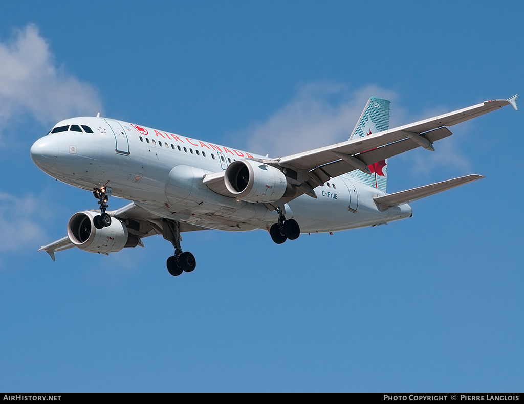
<svg viewBox="0 0 524 404">
<path fill-rule="evenodd" d="M 219 230 L 268 228 L 276 211 L 218 194 L 202 183 L 234 160 L 262 158 L 242 150 L 173 135 L 108 118 L 79 117 L 55 127 L 87 126 L 93 133 L 67 130 L 37 140 L 31 155 L 50 176 L 86 190 L 110 187 L 112 195 L 134 201 L 152 214 Z M 71 128 L 71 126 L 70 126 Z M 53 129 L 54 132 L 54 129 Z M 384 195 L 345 176 L 333 178 L 286 204 L 302 233 L 331 232 L 386 223 L 411 215 L 404 204 L 380 211 Z"/>
</svg>

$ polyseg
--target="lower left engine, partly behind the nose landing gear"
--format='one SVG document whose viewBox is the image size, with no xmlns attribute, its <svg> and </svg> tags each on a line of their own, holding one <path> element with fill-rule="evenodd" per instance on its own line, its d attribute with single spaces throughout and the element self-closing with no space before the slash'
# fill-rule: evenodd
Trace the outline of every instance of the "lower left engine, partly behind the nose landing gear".
<svg viewBox="0 0 524 404">
<path fill-rule="evenodd" d="M 91 253 L 115 253 L 124 247 L 136 247 L 139 239 L 129 234 L 124 223 L 112 217 L 111 225 L 98 229 L 93 218 L 100 213 L 83 211 L 69 219 L 67 235 L 75 246 Z"/>
</svg>

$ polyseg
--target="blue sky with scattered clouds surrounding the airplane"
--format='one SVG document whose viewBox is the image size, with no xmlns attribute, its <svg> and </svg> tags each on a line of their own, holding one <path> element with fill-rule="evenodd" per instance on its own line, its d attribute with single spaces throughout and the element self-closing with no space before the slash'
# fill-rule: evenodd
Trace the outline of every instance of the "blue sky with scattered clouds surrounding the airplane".
<svg viewBox="0 0 524 404">
<path fill-rule="evenodd" d="M 91 193 L 29 148 L 102 115 L 272 155 L 522 93 L 519 2 L 6 2 L 0 13 L 1 391 L 522 391 L 523 115 L 388 162 L 388 191 L 478 173 L 413 217 L 275 245 L 161 237 L 110 256 L 41 245 Z M 521 100 L 520 100 L 521 101 Z M 111 208 L 126 202 L 113 199 Z"/>
</svg>

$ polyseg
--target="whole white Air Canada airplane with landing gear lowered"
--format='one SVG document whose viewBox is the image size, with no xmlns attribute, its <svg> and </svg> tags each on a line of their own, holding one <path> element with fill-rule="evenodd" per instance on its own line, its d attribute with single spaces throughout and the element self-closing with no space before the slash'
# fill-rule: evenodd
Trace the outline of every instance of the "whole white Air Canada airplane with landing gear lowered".
<svg viewBox="0 0 524 404">
<path fill-rule="evenodd" d="M 67 236 L 42 246 L 55 253 L 78 247 L 91 253 L 144 246 L 161 234 L 174 254 L 173 276 L 196 261 L 181 248 L 183 232 L 266 229 L 277 244 L 301 233 L 325 233 L 387 224 L 412 216 L 408 203 L 481 178 L 467 175 L 388 194 L 387 161 L 408 150 L 434 151 L 447 128 L 511 105 L 518 95 L 490 100 L 389 129 L 390 102 L 370 97 L 350 138 L 331 146 L 270 158 L 100 117 L 57 123 L 31 147 L 49 176 L 93 192 L 99 209 L 75 213 Z M 108 211 L 111 196 L 130 200 Z"/>
</svg>

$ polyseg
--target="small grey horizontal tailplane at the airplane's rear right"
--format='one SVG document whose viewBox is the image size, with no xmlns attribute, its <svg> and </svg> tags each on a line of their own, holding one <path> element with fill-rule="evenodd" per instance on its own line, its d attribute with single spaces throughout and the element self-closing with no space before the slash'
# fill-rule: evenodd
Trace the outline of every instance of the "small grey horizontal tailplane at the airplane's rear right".
<svg viewBox="0 0 524 404">
<path fill-rule="evenodd" d="M 390 206 L 398 206 L 403 203 L 409 203 L 416 201 L 417 199 L 425 198 L 426 196 L 434 195 L 451 188 L 458 187 L 459 185 L 466 184 L 468 182 L 476 181 L 483 176 L 478 176 L 476 174 L 471 174 L 469 176 L 454 178 L 452 180 L 436 182 L 430 185 L 424 185 L 423 187 L 409 189 L 407 191 L 401 191 L 392 193 L 385 196 L 377 196 L 373 200 L 386 208 Z"/>
</svg>

